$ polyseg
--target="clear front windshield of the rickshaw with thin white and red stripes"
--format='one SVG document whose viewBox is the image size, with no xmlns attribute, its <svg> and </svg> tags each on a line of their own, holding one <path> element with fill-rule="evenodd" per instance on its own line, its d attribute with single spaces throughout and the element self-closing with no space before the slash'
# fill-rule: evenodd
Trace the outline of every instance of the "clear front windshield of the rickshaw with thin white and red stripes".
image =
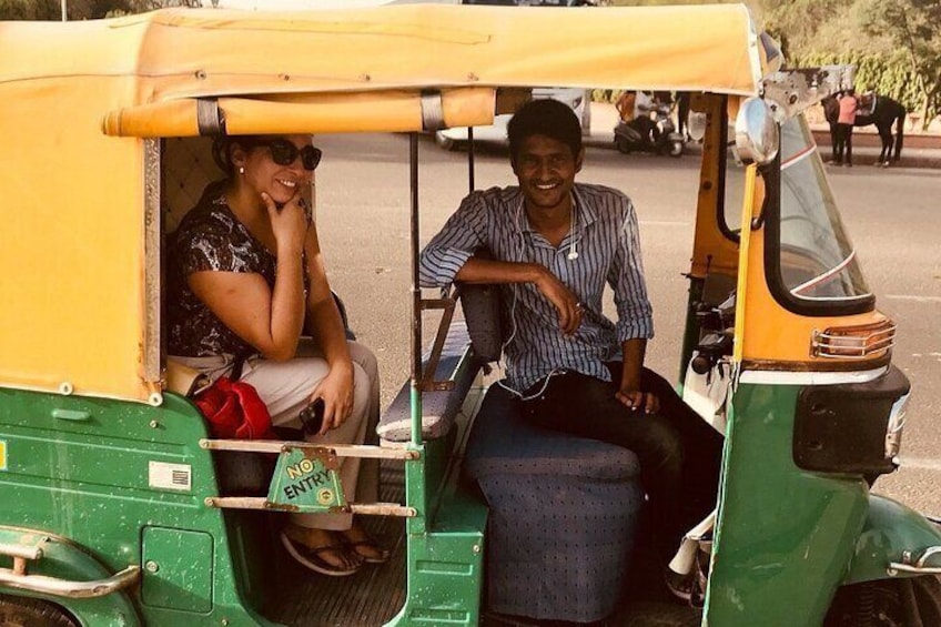
<svg viewBox="0 0 941 627">
<path fill-rule="evenodd" d="M 767 269 L 777 276 L 769 276 L 770 283 L 801 313 L 834 313 L 834 306 L 853 312 L 872 309 L 872 294 L 803 117 L 782 125 L 780 159 L 779 220 L 769 224 L 769 239 L 777 239 L 777 246 L 770 247 L 777 259 L 769 260 Z"/>
</svg>

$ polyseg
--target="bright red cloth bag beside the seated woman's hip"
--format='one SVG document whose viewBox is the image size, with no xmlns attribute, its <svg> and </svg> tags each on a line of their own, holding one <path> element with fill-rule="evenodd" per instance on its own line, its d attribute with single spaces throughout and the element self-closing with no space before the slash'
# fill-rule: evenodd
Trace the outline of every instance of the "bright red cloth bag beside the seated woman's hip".
<svg viewBox="0 0 941 627">
<path fill-rule="evenodd" d="M 213 437 L 277 439 L 267 407 L 247 383 L 222 376 L 193 401 L 209 422 Z"/>
</svg>

